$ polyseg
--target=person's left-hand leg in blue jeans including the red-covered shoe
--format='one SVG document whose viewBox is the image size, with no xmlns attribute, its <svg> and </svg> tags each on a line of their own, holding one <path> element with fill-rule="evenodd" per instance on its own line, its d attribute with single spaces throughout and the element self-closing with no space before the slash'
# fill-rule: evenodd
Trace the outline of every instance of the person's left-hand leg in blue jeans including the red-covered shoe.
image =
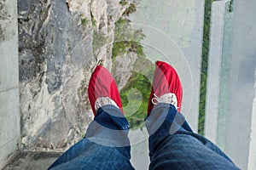
<svg viewBox="0 0 256 170">
<path fill-rule="evenodd" d="M 95 115 L 84 139 L 67 150 L 49 169 L 134 169 L 131 166 L 129 123 L 118 88 L 107 69 L 98 65 L 88 95 Z"/>
</svg>

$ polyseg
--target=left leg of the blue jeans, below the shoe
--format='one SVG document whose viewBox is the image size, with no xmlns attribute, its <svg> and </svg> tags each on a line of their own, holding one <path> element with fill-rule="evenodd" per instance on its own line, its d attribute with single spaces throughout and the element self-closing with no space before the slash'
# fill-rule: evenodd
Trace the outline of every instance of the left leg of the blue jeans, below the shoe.
<svg viewBox="0 0 256 170">
<path fill-rule="evenodd" d="M 134 169 L 130 162 L 129 128 L 118 108 L 102 106 L 84 139 L 74 144 L 49 169 Z"/>
</svg>

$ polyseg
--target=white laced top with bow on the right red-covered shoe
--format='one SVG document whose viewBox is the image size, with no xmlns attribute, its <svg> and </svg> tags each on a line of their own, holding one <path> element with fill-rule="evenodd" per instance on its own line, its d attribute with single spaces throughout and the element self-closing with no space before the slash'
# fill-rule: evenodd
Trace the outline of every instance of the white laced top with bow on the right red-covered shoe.
<svg viewBox="0 0 256 170">
<path fill-rule="evenodd" d="M 169 93 L 169 94 L 163 94 L 162 96 L 158 97 L 157 95 L 153 94 L 154 98 L 152 98 L 152 103 L 154 105 L 158 105 L 159 103 L 167 103 L 172 104 L 178 109 L 177 107 L 177 97 L 175 94 Z"/>
</svg>

